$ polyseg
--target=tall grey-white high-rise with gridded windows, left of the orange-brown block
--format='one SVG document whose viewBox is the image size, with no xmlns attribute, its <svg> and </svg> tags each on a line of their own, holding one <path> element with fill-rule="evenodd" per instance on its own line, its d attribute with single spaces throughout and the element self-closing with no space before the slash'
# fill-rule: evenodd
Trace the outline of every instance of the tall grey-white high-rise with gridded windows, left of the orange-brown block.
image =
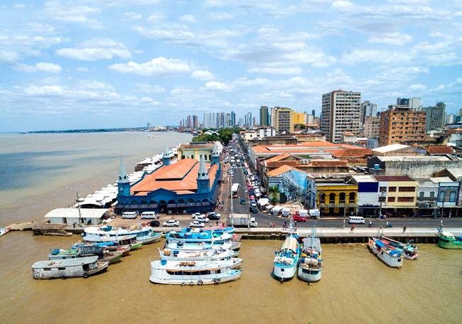
<svg viewBox="0 0 462 324">
<path fill-rule="evenodd" d="M 335 90 L 323 95 L 321 131 L 332 143 L 341 143 L 342 134 L 358 135 L 361 92 Z"/>
</svg>

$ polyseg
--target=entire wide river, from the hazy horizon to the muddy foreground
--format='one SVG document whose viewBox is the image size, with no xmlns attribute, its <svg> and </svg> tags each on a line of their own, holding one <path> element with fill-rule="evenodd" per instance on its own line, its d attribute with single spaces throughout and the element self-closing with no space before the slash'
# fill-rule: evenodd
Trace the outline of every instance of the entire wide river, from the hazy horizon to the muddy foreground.
<svg viewBox="0 0 462 324">
<path fill-rule="evenodd" d="M 1 224 L 42 220 L 55 207 L 113 183 L 120 151 L 129 172 L 187 134 L 0 135 Z M 165 137 L 164 137 L 165 136 Z M 242 276 L 213 286 L 149 282 L 157 244 L 131 252 L 89 279 L 34 280 L 31 266 L 79 237 L 0 237 L 1 323 L 460 323 L 462 251 L 419 245 L 419 259 L 391 269 L 363 244 L 323 244 L 320 282 L 272 278 L 281 241 L 242 243 Z"/>
</svg>

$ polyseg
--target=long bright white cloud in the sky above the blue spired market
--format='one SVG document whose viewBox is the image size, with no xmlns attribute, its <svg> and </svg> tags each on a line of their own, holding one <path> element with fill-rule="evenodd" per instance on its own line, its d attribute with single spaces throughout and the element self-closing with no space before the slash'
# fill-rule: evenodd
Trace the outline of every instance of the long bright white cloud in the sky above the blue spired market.
<svg viewBox="0 0 462 324">
<path fill-rule="evenodd" d="M 193 70 L 193 67 L 186 61 L 172 58 L 153 58 L 146 63 L 119 63 L 109 65 L 109 70 L 121 73 L 132 73 L 146 77 L 178 77 Z"/>
</svg>

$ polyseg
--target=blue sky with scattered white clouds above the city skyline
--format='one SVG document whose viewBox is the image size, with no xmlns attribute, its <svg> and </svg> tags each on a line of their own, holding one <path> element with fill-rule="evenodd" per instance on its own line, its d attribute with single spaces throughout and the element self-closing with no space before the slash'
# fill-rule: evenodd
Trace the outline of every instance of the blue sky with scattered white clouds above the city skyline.
<svg viewBox="0 0 462 324">
<path fill-rule="evenodd" d="M 0 2 L 0 132 L 318 115 L 339 89 L 458 112 L 462 1 Z"/>
</svg>

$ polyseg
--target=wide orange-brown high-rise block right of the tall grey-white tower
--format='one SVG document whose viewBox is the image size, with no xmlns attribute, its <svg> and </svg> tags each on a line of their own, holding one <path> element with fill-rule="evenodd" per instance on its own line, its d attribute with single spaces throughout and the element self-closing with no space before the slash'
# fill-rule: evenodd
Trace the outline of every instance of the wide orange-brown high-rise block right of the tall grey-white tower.
<svg viewBox="0 0 462 324">
<path fill-rule="evenodd" d="M 379 145 L 421 141 L 425 136 L 426 112 L 409 106 L 388 106 L 380 113 Z"/>
</svg>

